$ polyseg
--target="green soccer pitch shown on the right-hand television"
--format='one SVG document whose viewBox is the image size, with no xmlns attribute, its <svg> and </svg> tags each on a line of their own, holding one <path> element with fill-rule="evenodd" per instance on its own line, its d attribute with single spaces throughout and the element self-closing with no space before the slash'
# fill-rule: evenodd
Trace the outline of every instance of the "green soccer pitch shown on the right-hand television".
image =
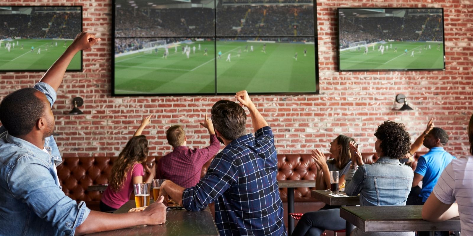
<svg viewBox="0 0 473 236">
<path fill-rule="evenodd" d="M 381 45 L 385 47 L 383 52 L 378 50 Z M 386 42 L 367 46 L 366 53 L 365 45 L 340 51 L 340 70 L 444 69 L 442 42 Z"/>
</svg>

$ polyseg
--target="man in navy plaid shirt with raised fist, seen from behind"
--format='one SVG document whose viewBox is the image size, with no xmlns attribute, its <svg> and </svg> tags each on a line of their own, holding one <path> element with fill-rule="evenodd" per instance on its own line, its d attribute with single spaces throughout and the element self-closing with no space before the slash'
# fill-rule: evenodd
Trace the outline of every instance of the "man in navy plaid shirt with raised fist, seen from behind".
<svg viewBox="0 0 473 236">
<path fill-rule="evenodd" d="M 161 185 L 188 211 L 200 211 L 215 202 L 215 221 L 221 236 L 286 236 L 282 202 L 276 180 L 274 136 L 246 91 L 235 98 L 250 111 L 254 136 L 246 134 L 245 110 L 236 102 L 221 100 L 211 111 L 215 134 L 225 144 L 199 183 L 183 188 L 166 180 Z"/>
</svg>

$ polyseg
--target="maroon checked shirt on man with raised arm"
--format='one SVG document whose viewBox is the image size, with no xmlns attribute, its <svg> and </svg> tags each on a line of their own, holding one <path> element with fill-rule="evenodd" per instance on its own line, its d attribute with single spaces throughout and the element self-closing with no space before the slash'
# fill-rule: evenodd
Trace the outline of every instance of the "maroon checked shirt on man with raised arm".
<svg viewBox="0 0 473 236">
<path fill-rule="evenodd" d="M 201 179 L 202 166 L 220 149 L 217 136 L 210 135 L 210 146 L 201 149 L 176 147 L 158 160 L 157 178 L 165 178 L 184 188 L 196 185 Z"/>
</svg>

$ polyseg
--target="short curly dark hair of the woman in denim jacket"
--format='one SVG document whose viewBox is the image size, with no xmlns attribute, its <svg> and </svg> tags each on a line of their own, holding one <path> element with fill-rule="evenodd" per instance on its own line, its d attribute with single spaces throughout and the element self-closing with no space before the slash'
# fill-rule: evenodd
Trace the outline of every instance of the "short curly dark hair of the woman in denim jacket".
<svg viewBox="0 0 473 236">
<path fill-rule="evenodd" d="M 411 149 L 411 137 L 402 123 L 387 120 L 378 126 L 375 136 L 381 140 L 380 148 L 385 156 L 403 159 Z"/>
</svg>

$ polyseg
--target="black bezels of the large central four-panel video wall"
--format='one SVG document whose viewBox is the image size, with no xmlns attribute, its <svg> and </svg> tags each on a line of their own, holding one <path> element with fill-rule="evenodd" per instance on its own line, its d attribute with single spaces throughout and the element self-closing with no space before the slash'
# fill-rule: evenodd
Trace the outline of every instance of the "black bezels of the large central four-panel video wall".
<svg viewBox="0 0 473 236">
<path fill-rule="evenodd" d="M 318 63 L 318 38 L 317 38 L 317 14 L 316 14 L 316 9 L 317 9 L 317 4 L 314 0 L 313 2 L 313 8 L 314 8 L 314 49 L 315 49 L 315 91 L 314 92 L 296 92 L 296 93 L 289 93 L 289 92 L 283 92 L 283 93 L 249 93 L 252 95 L 302 95 L 302 94 L 320 94 L 319 90 L 319 63 Z M 217 18 L 217 9 L 216 9 L 216 1 L 214 1 L 214 20 Z M 111 91 L 111 96 L 112 97 L 148 97 L 148 96 L 187 96 L 187 95 L 201 95 L 201 96 L 206 96 L 206 95 L 214 95 L 214 96 L 219 96 L 219 95 L 234 95 L 235 93 L 218 93 L 217 91 L 217 51 L 214 50 L 214 62 L 215 62 L 215 93 L 115 93 L 115 8 L 116 8 L 116 0 L 112 0 L 112 58 L 111 58 L 111 80 L 112 80 L 112 91 Z M 153 36 L 153 37 L 127 37 L 127 38 L 179 38 L 181 36 L 173 36 L 173 37 L 160 37 L 160 36 Z M 182 36 L 182 37 L 190 37 L 192 36 Z M 217 36 L 217 25 L 214 24 L 214 35 L 213 36 L 198 36 L 198 37 L 206 37 L 206 38 L 213 38 L 214 39 L 214 47 L 216 49 L 217 47 L 217 39 L 219 38 L 229 38 L 234 36 Z M 243 36 L 242 36 L 243 37 Z M 278 37 L 278 36 L 266 36 L 267 38 L 273 38 L 273 37 Z M 294 38 L 294 36 L 284 36 L 288 38 Z M 300 37 L 306 37 L 307 36 L 300 36 Z M 264 38 L 263 36 L 260 38 Z M 297 37 L 296 37 L 297 38 Z"/>
</svg>

